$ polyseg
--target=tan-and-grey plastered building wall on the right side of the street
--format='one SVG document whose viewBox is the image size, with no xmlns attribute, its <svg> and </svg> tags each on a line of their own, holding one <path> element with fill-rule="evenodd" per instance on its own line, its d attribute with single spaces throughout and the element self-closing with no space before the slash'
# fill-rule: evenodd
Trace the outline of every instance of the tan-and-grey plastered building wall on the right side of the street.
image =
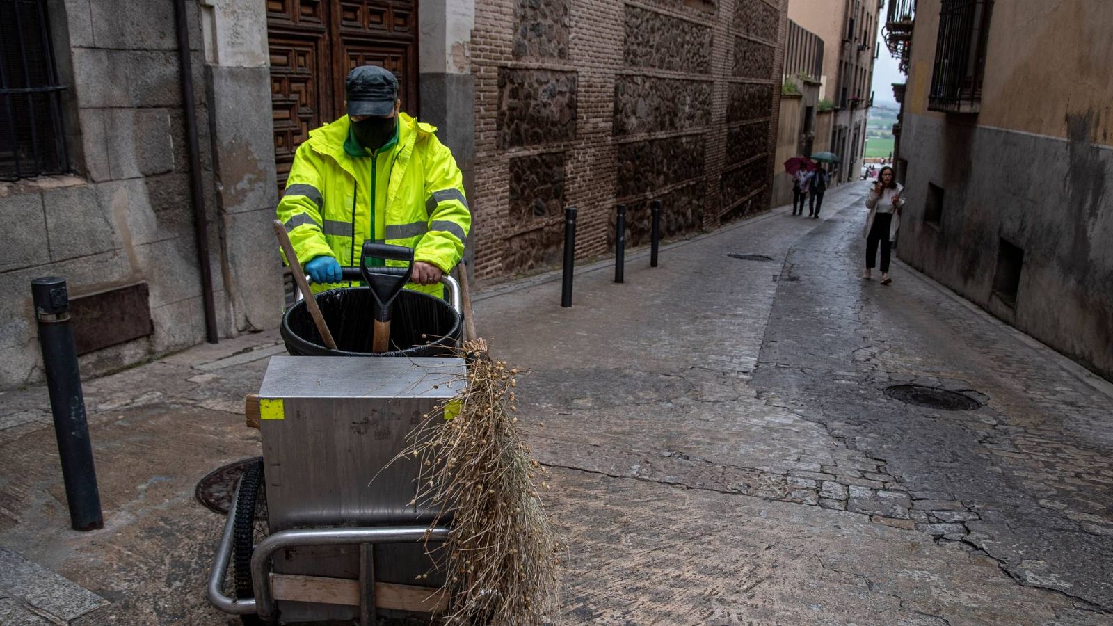
<svg viewBox="0 0 1113 626">
<path fill-rule="evenodd" d="M 903 17 L 897 255 L 1113 379 L 1113 4 L 919 0 Z"/>
</svg>

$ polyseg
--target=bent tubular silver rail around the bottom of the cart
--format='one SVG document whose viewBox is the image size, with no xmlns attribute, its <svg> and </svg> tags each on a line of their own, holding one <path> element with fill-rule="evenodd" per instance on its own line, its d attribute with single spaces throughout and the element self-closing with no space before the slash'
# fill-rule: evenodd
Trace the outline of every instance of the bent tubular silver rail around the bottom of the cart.
<svg viewBox="0 0 1113 626">
<path fill-rule="evenodd" d="M 224 579 L 228 574 L 228 560 L 232 557 L 232 541 L 236 525 L 236 502 L 239 500 L 239 482 L 228 507 L 228 520 L 220 535 L 220 544 L 216 549 L 216 559 L 209 573 L 208 599 L 213 606 L 233 615 L 258 614 L 263 619 L 274 614 L 274 599 L 270 597 L 269 576 L 267 568 L 270 558 L 278 550 L 296 546 L 335 546 L 358 544 L 401 544 L 432 539 L 444 541 L 451 530 L 444 527 L 427 526 L 377 526 L 370 528 L 298 528 L 282 530 L 268 536 L 252 555 L 252 584 L 255 586 L 255 597 L 245 599 L 229 598 L 224 593 Z"/>
</svg>

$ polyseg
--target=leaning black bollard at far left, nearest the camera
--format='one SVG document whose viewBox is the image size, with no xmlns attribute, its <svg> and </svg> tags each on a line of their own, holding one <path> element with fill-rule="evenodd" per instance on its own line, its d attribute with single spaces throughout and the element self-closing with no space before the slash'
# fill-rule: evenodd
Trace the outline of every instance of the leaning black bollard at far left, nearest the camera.
<svg viewBox="0 0 1113 626">
<path fill-rule="evenodd" d="M 77 346 L 69 322 L 69 294 L 62 278 L 31 281 L 35 316 L 39 323 L 42 346 L 42 369 L 47 373 L 50 410 L 55 415 L 55 437 L 62 462 L 66 502 L 73 530 L 105 527 L 100 512 L 100 491 L 92 467 L 89 424 L 85 415 L 81 373 L 77 365 Z"/>
</svg>

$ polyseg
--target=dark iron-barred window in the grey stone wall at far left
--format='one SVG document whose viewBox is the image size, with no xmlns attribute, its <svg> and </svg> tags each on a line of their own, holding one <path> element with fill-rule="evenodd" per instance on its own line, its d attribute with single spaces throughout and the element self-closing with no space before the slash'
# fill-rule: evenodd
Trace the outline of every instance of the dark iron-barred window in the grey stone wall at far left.
<svg viewBox="0 0 1113 626">
<path fill-rule="evenodd" d="M 69 169 L 45 2 L 0 0 L 0 179 Z"/>
</svg>

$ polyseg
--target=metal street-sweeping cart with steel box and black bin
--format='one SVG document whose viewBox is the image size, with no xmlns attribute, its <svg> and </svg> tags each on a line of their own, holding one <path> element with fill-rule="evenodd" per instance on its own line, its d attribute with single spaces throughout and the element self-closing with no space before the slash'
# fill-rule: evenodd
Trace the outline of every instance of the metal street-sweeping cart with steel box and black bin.
<svg viewBox="0 0 1113 626">
<path fill-rule="evenodd" d="M 345 268 L 345 277 L 357 270 Z M 313 332 L 287 332 L 297 325 L 298 305 L 286 312 L 287 349 L 304 354 L 308 345 L 329 355 L 272 358 L 259 393 L 247 399 L 247 422 L 262 432 L 263 457 L 236 487 L 208 580 L 214 606 L 245 624 L 362 626 L 445 606 L 443 575 L 427 550 L 450 530 L 430 528 L 436 511 L 414 502 L 418 461 L 391 462 L 423 415 L 465 387 L 464 360 L 451 355 L 460 338 L 460 286 L 449 275 L 442 283 L 449 302 L 402 294 L 402 309 L 411 302 L 442 315 L 443 305 L 451 314 L 433 331 L 433 344 L 413 323 L 392 329 L 400 350 L 386 354 L 395 358 L 344 350 L 339 314 L 323 306 L 342 330 L 338 350 L 325 351 L 313 344 Z M 367 288 L 334 291 L 358 299 L 356 292 Z M 317 302 L 344 295 L 329 294 Z M 233 595 L 224 588 L 229 564 Z"/>
</svg>

